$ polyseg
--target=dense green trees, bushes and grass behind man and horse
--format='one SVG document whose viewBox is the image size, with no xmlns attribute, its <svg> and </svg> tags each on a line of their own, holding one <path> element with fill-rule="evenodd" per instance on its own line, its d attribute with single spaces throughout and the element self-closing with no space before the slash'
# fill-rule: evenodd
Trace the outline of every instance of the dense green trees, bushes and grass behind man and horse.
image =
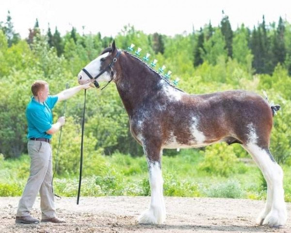
<svg viewBox="0 0 291 233">
<path fill-rule="evenodd" d="M 26 40 L 14 32 L 11 17 L 0 23 L 0 196 L 20 195 L 28 177 L 25 108 L 35 80 L 46 80 L 51 94 L 77 85 L 77 74 L 113 38 L 81 35 L 76 29 L 61 36 L 57 28 L 40 33 L 38 22 Z M 199 31 L 174 37 L 145 34 L 127 25 L 115 37 L 117 47 L 133 43 L 149 52 L 158 66 L 165 65 L 180 78 L 179 88 L 189 93 L 246 89 L 281 105 L 274 118 L 271 151 L 284 166 L 285 197 L 291 200 L 291 24 L 279 19 L 250 30 L 243 25 L 232 31 L 223 16 L 219 27 L 209 23 Z M 81 142 L 82 93 L 67 100 L 58 155 L 57 193 L 77 192 Z M 63 105 L 54 109 L 61 116 Z M 127 113 L 114 84 L 104 91 L 87 92 L 83 195 L 149 195 L 146 160 L 142 147 L 129 133 Z M 53 136 L 54 156 L 58 134 Z M 24 154 L 24 155 L 22 155 Z M 126 155 L 124 155 L 126 154 Z M 178 156 L 176 156 L 178 154 Z M 22 156 L 20 156 L 22 155 Z M 164 194 L 260 199 L 264 183 L 254 164 L 239 146 L 218 144 L 200 150 L 164 150 Z M 56 157 L 54 158 L 56 159 Z M 179 165 L 177 167 L 177 164 Z M 229 179 L 231 177 L 231 179 Z M 257 183 L 254 183 L 257 182 Z M 212 186 L 213 183 L 216 185 Z"/>
</svg>

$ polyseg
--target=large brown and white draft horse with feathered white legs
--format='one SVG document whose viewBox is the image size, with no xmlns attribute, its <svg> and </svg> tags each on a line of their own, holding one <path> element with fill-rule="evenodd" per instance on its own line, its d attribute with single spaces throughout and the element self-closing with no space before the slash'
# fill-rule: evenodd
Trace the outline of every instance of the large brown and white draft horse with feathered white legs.
<svg viewBox="0 0 291 233">
<path fill-rule="evenodd" d="M 95 78 L 94 78 L 95 76 Z M 257 223 L 282 226 L 287 220 L 283 171 L 269 150 L 273 116 L 279 106 L 258 94 L 229 90 L 187 94 L 128 51 L 112 46 L 86 65 L 78 82 L 113 81 L 129 116 L 130 132 L 146 155 L 151 199 L 140 224 L 161 224 L 162 150 L 239 143 L 249 152 L 267 182 L 267 200 Z"/>
</svg>

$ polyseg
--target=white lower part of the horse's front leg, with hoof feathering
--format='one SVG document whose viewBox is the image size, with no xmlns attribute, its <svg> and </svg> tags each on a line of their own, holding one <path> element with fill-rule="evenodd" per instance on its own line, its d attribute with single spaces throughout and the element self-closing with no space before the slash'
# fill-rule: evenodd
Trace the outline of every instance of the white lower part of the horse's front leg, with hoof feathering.
<svg viewBox="0 0 291 233">
<path fill-rule="evenodd" d="M 162 170 L 158 162 L 149 162 L 149 183 L 151 200 L 149 208 L 138 218 L 139 223 L 161 224 L 165 221 L 166 211 L 162 194 Z"/>
</svg>

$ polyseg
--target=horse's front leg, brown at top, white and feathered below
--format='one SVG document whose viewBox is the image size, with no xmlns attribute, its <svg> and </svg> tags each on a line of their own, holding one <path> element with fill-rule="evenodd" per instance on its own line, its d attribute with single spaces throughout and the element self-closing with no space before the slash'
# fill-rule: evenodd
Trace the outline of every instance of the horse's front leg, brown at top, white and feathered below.
<svg viewBox="0 0 291 233">
<path fill-rule="evenodd" d="M 139 216 L 141 224 L 161 224 L 166 218 L 162 194 L 162 149 L 156 143 L 144 143 L 147 159 L 151 200 L 149 208 Z"/>
</svg>

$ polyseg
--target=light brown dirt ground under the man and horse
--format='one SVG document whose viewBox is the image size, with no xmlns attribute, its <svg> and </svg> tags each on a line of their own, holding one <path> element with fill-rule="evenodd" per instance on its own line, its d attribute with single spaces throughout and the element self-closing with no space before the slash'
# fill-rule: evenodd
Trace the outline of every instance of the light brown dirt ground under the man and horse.
<svg viewBox="0 0 291 233">
<path fill-rule="evenodd" d="M 162 225 L 139 225 L 137 217 L 149 197 L 81 197 L 56 200 L 58 217 L 66 223 L 15 224 L 19 197 L 0 198 L 0 233 L 291 233 L 291 220 L 283 228 L 257 226 L 263 201 L 166 197 L 167 219 Z M 288 204 L 291 216 L 291 204 Z M 40 218 L 39 198 L 32 216 Z"/>
</svg>

